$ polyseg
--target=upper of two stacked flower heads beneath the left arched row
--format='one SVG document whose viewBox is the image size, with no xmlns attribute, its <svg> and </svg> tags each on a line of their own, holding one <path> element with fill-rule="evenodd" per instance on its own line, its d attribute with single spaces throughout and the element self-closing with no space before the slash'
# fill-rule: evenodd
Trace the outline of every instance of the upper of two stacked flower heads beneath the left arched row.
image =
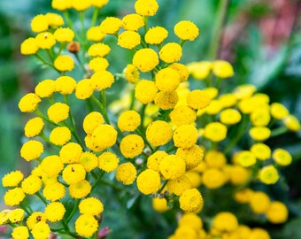
<svg viewBox="0 0 301 239">
<path fill-rule="evenodd" d="M 52 104 L 48 108 L 47 115 L 48 118 L 55 123 L 64 121 L 69 116 L 69 105 L 60 102 Z"/>
</svg>

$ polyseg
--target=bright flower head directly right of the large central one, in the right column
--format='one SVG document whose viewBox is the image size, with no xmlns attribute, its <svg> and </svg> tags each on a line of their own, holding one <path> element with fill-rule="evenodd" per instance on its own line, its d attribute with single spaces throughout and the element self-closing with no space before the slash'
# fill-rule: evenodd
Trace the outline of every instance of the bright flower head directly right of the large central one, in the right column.
<svg viewBox="0 0 301 239">
<path fill-rule="evenodd" d="M 188 149 L 197 143 L 197 128 L 192 125 L 182 125 L 174 130 L 174 146 Z"/>
</svg>

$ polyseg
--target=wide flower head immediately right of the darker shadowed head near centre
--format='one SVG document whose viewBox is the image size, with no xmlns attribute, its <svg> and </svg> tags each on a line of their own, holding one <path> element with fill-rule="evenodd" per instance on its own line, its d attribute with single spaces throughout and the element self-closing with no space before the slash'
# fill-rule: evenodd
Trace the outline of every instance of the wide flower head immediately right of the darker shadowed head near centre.
<svg viewBox="0 0 301 239">
<path fill-rule="evenodd" d="M 204 90 L 194 89 L 189 92 L 186 101 L 192 109 L 201 110 L 210 104 L 211 98 Z"/>
</svg>

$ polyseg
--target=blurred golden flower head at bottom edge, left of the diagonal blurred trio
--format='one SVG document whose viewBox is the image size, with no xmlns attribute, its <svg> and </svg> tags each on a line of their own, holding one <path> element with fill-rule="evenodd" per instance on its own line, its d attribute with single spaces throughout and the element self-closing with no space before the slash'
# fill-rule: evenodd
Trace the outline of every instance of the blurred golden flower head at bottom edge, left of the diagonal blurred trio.
<svg viewBox="0 0 301 239">
<path fill-rule="evenodd" d="M 238 220 L 231 212 L 219 212 L 213 219 L 213 227 L 220 232 L 233 232 L 238 227 Z"/>
</svg>

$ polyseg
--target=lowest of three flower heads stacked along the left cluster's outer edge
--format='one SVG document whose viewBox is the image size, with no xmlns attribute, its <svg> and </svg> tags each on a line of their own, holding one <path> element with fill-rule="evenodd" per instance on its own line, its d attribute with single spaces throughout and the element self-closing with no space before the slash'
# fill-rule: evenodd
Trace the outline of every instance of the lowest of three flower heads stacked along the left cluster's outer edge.
<svg viewBox="0 0 301 239">
<path fill-rule="evenodd" d="M 20 155 L 27 161 L 34 160 L 35 158 L 39 158 L 43 152 L 42 143 L 36 140 L 30 140 L 26 143 L 23 143 Z"/>
</svg>

